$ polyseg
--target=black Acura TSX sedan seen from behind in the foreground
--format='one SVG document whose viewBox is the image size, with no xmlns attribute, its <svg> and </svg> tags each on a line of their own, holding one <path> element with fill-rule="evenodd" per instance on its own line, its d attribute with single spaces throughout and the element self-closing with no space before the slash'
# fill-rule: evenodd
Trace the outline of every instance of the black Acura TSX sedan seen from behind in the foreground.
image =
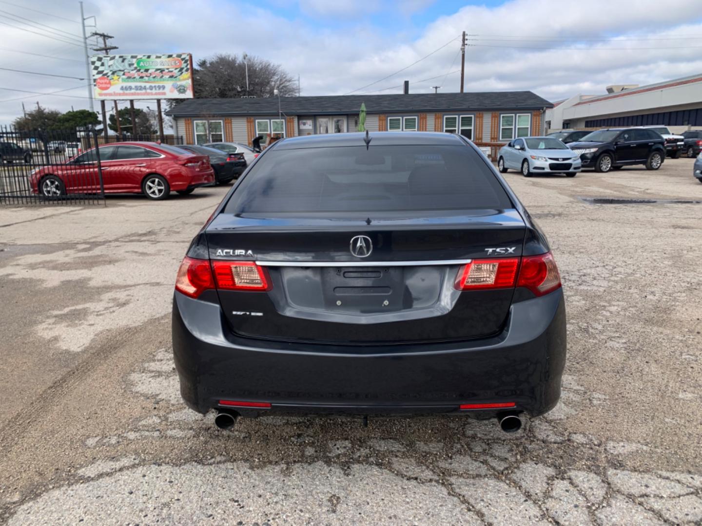
<svg viewBox="0 0 702 526">
<path fill-rule="evenodd" d="M 548 241 L 456 134 L 267 147 L 178 270 L 185 403 L 272 413 L 497 416 L 557 404 L 564 295 Z"/>
</svg>

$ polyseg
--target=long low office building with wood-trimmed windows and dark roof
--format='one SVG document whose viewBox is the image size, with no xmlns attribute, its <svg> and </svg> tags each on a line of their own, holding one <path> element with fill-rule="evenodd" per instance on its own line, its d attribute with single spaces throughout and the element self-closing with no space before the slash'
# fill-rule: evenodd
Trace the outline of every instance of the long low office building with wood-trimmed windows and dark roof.
<svg viewBox="0 0 702 526">
<path fill-rule="evenodd" d="M 188 99 L 166 115 L 187 144 L 251 144 L 257 135 L 355 132 L 362 103 L 371 132 L 461 133 L 493 153 L 515 137 L 543 133 L 543 114 L 552 107 L 531 91 L 501 91 Z"/>
</svg>

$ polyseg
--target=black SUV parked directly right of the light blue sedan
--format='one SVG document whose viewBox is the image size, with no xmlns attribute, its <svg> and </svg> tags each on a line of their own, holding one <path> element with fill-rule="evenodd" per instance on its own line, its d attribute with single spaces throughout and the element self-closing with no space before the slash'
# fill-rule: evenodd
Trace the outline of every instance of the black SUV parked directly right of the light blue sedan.
<svg viewBox="0 0 702 526">
<path fill-rule="evenodd" d="M 596 172 L 633 164 L 658 170 L 665 159 L 665 140 L 660 133 L 645 128 L 597 130 L 568 146 L 580 155 L 583 168 L 595 168 Z"/>
</svg>

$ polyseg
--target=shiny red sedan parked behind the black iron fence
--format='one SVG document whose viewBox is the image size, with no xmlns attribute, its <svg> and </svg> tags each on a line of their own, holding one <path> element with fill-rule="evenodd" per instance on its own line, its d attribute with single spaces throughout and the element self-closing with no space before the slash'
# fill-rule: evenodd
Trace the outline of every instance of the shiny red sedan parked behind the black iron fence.
<svg viewBox="0 0 702 526">
<path fill-rule="evenodd" d="M 100 192 L 95 149 L 63 164 L 43 166 L 30 175 L 32 191 L 47 198 Z M 157 142 L 113 142 L 100 146 L 100 168 L 105 194 L 145 194 L 165 199 L 171 190 L 190 194 L 215 182 L 205 155 Z"/>
</svg>

